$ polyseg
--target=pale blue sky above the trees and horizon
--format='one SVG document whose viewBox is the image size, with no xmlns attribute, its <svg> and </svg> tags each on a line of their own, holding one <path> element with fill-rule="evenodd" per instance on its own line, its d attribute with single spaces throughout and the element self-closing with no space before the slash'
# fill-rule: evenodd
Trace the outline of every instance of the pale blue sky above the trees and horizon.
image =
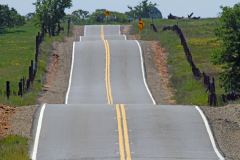
<svg viewBox="0 0 240 160">
<path fill-rule="evenodd" d="M 17 11 L 26 15 L 34 12 L 32 5 L 36 0 L 0 0 L 0 4 L 8 4 Z M 95 9 L 108 9 L 112 11 L 128 11 L 127 6 L 135 6 L 142 0 L 73 0 L 73 7 L 67 10 L 71 13 L 77 9 L 93 12 Z M 169 13 L 177 16 L 187 16 L 194 12 L 194 16 L 217 17 L 221 12 L 220 6 L 233 6 L 239 0 L 150 0 L 157 3 L 157 8 L 167 17 Z"/>
</svg>

